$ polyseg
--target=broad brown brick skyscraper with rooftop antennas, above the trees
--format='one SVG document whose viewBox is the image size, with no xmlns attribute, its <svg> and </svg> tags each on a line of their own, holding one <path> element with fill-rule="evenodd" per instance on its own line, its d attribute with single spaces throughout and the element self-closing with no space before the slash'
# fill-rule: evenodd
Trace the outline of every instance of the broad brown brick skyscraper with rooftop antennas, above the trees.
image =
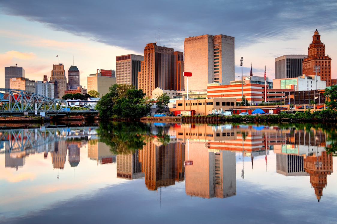
<svg viewBox="0 0 337 224">
<path fill-rule="evenodd" d="M 156 43 L 147 44 L 138 73 L 138 88 L 143 89 L 149 98 L 152 98 L 152 91 L 157 87 L 181 90 L 183 65 L 183 52 L 157 46 Z"/>
</svg>

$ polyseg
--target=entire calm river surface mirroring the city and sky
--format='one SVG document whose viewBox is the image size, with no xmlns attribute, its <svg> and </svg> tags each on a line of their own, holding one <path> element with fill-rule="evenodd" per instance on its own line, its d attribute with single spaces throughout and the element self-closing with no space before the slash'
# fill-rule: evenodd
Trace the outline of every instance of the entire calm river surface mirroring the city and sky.
<svg viewBox="0 0 337 224">
<path fill-rule="evenodd" d="M 337 223 L 336 128 L 0 129 L 0 223 Z"/>
</svg>

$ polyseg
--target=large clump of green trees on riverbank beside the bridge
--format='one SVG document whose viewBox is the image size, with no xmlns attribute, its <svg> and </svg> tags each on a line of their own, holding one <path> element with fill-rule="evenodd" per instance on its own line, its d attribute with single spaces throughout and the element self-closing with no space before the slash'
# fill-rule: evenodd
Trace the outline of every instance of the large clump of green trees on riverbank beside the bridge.
<svg viewBox="0 0 337 224">
<path fill-rule="evenodd" d="M 135 89 L 132 85 L 115 84 L 109 90 L 96 106 L 101 118 L 140 118 L 150 111 L 142 89 Z"/>
</svg>

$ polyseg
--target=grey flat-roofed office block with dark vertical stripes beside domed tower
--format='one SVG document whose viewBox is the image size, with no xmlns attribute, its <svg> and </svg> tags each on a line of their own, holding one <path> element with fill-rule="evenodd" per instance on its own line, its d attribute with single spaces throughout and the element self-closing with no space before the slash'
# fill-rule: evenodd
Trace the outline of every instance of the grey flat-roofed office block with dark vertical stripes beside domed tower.
<svg viewBox="0 0 337 224">
<path fill-rule="evenodd" d="M 302 76 L 302 62 L 306 54 L 287 54 L 275 59 L 275 79 Z"/>
</svg>

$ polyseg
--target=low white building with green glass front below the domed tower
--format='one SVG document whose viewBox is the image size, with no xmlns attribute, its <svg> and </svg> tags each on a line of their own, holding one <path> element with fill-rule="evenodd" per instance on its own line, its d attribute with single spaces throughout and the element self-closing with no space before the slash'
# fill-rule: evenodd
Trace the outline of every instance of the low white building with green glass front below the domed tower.
<svg viewBox="0 0 337 224">
<path fill-rule="evenodd" d="M 274 79 L 274 88 L 295 89 L 295 91 L 325 89 L 326 82 L 320 76 L 299 76 L 297 78 Z"/>
</svg>

